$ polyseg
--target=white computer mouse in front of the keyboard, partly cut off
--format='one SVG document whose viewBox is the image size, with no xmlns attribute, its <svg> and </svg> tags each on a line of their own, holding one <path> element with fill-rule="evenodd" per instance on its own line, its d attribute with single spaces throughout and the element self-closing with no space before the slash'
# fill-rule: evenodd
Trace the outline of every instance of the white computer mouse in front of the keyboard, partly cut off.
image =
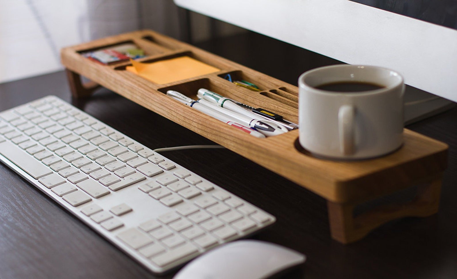
<svg viewBox="0 0 457 279">
<path fill-rule="evenodd" d="M 263 279 L 305 259 L 305 255 L 277 244 L 239 240 L 202 254 L 173 279 Z"/>
</svg>

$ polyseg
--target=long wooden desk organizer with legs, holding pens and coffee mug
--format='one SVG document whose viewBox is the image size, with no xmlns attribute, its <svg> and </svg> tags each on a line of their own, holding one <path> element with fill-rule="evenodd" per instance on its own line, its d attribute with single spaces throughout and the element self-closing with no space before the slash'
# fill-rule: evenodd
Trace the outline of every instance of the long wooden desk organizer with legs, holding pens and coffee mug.
<svg viewBox="0 0 457 279">
<path fill-rule="evenodd" d="M 129 62 L 106 66 L 80 54 L 123 42 L 134 42 L 145 51 L 147 57 L 139 59 L 142 62 L 187 55 L 221 70 L 170 84 L 154 84 L 126 71 Z M 441 174 L 447 163 L 445 143 L 404 129 L 404 145 L 398 151 L 371 160 L 341 162 L 314 158 L 300 150 L 298 130 L 263 139 L 252 137 L 181 104 L 165 95 L 166 91 L 173 89 L 196 99 L 197 90 L 207 88 L 297 122 L 298 88 L 149 30 L 67 47 L 61 58 L 74 97 L 89 96 L 100 84 L 322 196 L 327 200 L 331 235 L 339 242 L 357 241 L 393 219 L 429 216 L 438 211 Z M 223 79 L 227 73 L 234 79 L 257 84 L 261 91 L 254 92 Z M 92 83 L 82 84 L 80 75 Z M 356 205 L 416 184 L 421 186 L 409 203 L 353 214 Z"/>
</svg>

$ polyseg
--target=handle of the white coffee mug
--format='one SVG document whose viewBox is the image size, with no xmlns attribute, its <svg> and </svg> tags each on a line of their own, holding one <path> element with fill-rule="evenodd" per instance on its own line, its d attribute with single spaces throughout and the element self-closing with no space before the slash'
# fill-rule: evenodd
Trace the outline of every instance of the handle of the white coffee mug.
<svg viewBox="0 0 457 279">
<path fill-rule="evenodd" d="M 343 155 L 351 155 L 355 153 L 354 139 L 354 118 L 356 109 L 352 105 L 343 105 L 338 111 L 338 132 L 340 137 L 340 151 Z"/>
</svg>

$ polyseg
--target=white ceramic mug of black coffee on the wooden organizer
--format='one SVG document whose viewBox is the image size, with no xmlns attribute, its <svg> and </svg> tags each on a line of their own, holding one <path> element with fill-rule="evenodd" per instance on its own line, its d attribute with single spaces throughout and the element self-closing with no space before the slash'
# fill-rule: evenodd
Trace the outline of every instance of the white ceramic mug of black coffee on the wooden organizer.
<svg viewBox="0 0 457 279">
<path fill-rule="evenodd" d="M 298 79 L 299 142 L 314 156 L 367 159 L 403 142 L 404 83 L 387 68 L 333 65 Z"/>
</svg>

